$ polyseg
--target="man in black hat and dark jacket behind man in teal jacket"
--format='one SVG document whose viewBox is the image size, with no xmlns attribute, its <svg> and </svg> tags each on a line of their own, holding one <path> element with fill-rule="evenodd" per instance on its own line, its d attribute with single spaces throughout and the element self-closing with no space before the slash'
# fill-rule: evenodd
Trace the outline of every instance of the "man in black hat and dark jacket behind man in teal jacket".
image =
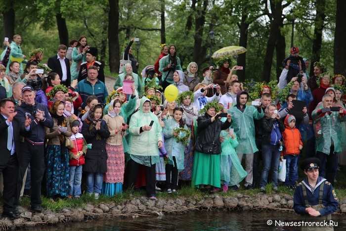
<svg viewBox="0 0 346 231">
<path fill-rule="evenodd" d="M 78 82 L 87 78 L 87 70 L 90 66 L 97 67 L 97 79 L 104 83 L 104 73 L 102 63 L 95 61 L 95 56 L 97 55 L 97 48 L 89 47 L 86 52 L 87 62 L 81 63 L 81 68 L 79 69 Z"/>
</svg>

